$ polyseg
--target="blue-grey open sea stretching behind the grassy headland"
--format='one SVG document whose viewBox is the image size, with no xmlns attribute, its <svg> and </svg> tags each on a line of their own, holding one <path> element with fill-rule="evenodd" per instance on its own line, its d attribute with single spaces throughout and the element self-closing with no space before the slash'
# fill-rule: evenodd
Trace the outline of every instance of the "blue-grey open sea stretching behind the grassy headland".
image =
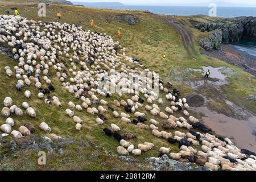
<svg viewBox="0 0 256 182">
<path fill-rule="evenodd" d="M 210 7 L 208 6 L 137 6 L 137 5 L 112 5 L 101 3 L 83 3 L 72 2 L 74 5 L 83 5 L 85 7 L 98 7 L 106 9 L 123 9 L 123 10 L 142 10 L 150 11 L 155 14 L 164 15 L 209 15 Z M 234 18 L 238 16 L 256 16 L 256 7 L 218 7 L 217 16 L 222 18 Z"/>
</svg>

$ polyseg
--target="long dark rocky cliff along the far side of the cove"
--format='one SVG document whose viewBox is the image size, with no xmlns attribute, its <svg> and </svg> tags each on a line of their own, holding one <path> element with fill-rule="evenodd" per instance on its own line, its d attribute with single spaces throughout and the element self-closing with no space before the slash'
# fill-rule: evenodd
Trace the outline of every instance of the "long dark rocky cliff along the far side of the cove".
<svg viewBox="0 0 256 182">
<path fill-rule="evenodd" d="M 216 39 L 220 36 L 219 31 L 221 31 L 222 35 L 221 43 L 224 44 L 238 42 L 242 38 L 256 38 L 256 17 L 253 16 L 225 19 L 221 22 L 198 23 L 195 27 L 202 32 L 213 31 L 210 34 L 210 40 L 215 41 L 212 43 L 215 47 L 210 46 L 209 39 L 200 40 L 201 46 L 206 50 L 218 49 L 220 47 L 220 44 L 216 44 Z M 213 38 L 212 36 L 214 35 L 217 37 Z"/>
</svg>

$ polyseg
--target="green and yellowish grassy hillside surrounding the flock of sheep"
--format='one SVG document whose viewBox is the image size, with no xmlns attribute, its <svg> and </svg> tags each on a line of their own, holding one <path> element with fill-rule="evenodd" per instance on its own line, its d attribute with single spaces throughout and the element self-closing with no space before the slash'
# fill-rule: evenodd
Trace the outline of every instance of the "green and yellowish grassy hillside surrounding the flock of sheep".
<svg viewBox="0 0 256 182">
<path fill-rule="evenodd" d="M 0 14 L 5 13 L 6 10 L 10 10 L 10 7 L 14 6 L 13 3 L 2 0 L 0 1 L 0 5 Z M 200 36 L 204 36 L 204 33 L 193 28 L 190 22 L 191 19 L 198 20 L 198 17 L 177 17 L 174 20 L 177 23 L 183 24 L 185 28 L 191 32 L 196 54 L 188 55 L 187 51 L 184 49 L 181 35 L 175 30 L 175 28 L 163 22 L 161 18 L 156 18 L 156 16 L 143 11 L 106 10 L 81 6 L 50 4 L 47 5 L 47 16 L 39 17 L 38 6 L 36 3 L 19 2 L 15 5 L 18 7 L 20 15 L 28 19 L 60 21 L 61 23 L 67 22 L 76 24 L 77 26 L 82 26 L 84 30 L 92 30 L 102 33 L 106 32 L 106 34 L 111 35 L 115 41 L 118 41 L 121 46 L 126 47 L 126 55 L 136 57 L 146 67 L 159 73 L 164 81 L 173 82 L 175 88 L 178 88 L 181 91 L 181 96 L 183 97 L 193 93 L 194 90 L 190 86 L 184 85 L 183 82 L 174 82 L 172 77 L 169 76 L 170 71 L 173 69 L 182 71 L 185 68 L 198 69 L 202 66 L 230 68 L 236 74 L 229 75 L 229 84 L 222 86 L 222 90 L 224 90 L 224 93 L 230 101 L 233 101 L 237 105 L 245 106 L 251 111 L 256 110 L 255 102 L 245 99 L 249 94 L 256 93 L 256 81 L 252 75 L 242 71 L 240 68 L 225 63 L 224 61 L 200 55 L 200 47 L 197 44 L 197 39 L 199 39 Z M 60 11 L 63 15 L 60 20 L 56 17 L 57 11 Z M 13 11 L 10 10 L 10 13 L 13 14 Z M 135 15 L 139 18 L 139 21 L 134 25 L 119 22 L 116 15 L 120 14 Z M 90 27 L 90 19 L 94 20 L 93 27 Z M 200 20 L 202 19 L 203 18 L 200 18 Z M 121 37 L 117 36 L 118 30 L 121 30 L 122 32 Z M 163 60 L 162 58 L 163 53 L 166 53 L 167 55 L 166 60 Z M 6 96 L 10 96 L 13 98 L 15 105 L 21 106 L 23 101 L 27 101 L 28 104 L 36 109 L 37 114 L 35 119 L 31 119 L 26 115 L 22 118 L 12 116 L 15 120 L 14 129 L 17 130 L 18 126 L 22 125 L 25 121 L 31 121 L 35 125 L 46 121 L 49 126 L 52 127 L 52 133 L 60 135 L 63 138 L 73 138 L 76 141 L 91 140 L 98 146 L 104 147 L 104 149 L 97 151 L 96 147 L 90 147 L 88 144 L 81 144 L 80 146 L 75 142 L 71 146 L 64 148 L 64 155 L 50 154 L 47 162 L 48 165 L 43 169 L 120 169 L 120 166 L 122 166 L 122 169 L 138 169 L 135 165 L 127 165 L 118 159 L 113 159 L 105 155 L 108 154 L 108 152 L 116 154 L 116 147 L 119 146 L 117 140 L 113 137 L 107 137 L 102 132 L 102 128 L 109 126 L 110 123 L 117 123 L 117 125 L 122 128 L 121 133 L 130 131 L 136 134 L 138 138 L 131 141 L 134 145 L 145 141 L 155 143 L 156 147 L 154 150 L 144 152 L 141 156 L 135 157 L 138 162 L 143 162 L 143 159 L 148 156 L 158 155 L 159 147 L 162 146 L 171 147 L 172 151 L 177 151 L 177 144 L 171 145 L 164 139 L 152 136 L 149 130 L 145 132 L 134 125 L 126 125 L 126 127 L 124 127 L 124 124 L 118 121 L 118 119 L 113 118 L 110 113 L 106 114 L 108 120 L 104 126 L 100 127 L 96 125 L 94 120 L 95 117 L 87 114 L 85 109 L 81 112 L 76 111 L 76 115 L 84 121 L 82 130 L 77 132 L 72 118 L 68 118 L 67 115 L 64 115 L 64 111 L 68 108 L 68 101 L 73 101 L 75 104 L 80 104 L 80 102 L 64 90 L 57 78 L 51 78 L 52 84 L 57 88 L 54 93 L 51 93 L 51 96 L 57 96 L 60 98 L 61 103 L 63 103 L 62 109 L 56 108 L 55 106 L 48 106 L 44 104 L 43 101 L 39 100 L 36 96 L 37 91 L 34 86 L 24 86 L 22 92 L 16 91 L 14 88 L 16 78 L 14 78 L 14 76 L 11 78 L 7 77 L 4 70 L 5 66 L 9 65 L 13 68 L 16 63 L 5 53 L 1 53 L 0 57 L 0 107 L 2 108 L 3 106 L 3 99 Z M 191 80 L 201 78 L 201 75 L 196 72 L 184 73 L 182 76 L 191 78 Z M 23 95 L 24 91 L 27 89 L 32 92 L 32 97 L 30 99 L 25 98 Z M 199 93 L 206 97 L 212 97 L 213 92 L 216 95 L 218 94 L 214 90 L 201 90 Z M 117 97 L 118 96 L 114 96 L 111 100 L 114 100 Z M 111 102 L 111 100 L 108 101 Z M 214 98 L 212 98 L 209 103 L 211 102 L 212 105 L 209 105 L 212 109 L 218 110 L 220 108 L 225 109 L 226 107 L 225 103 L 218 102 L 219 104 L 216 104 L 216 100 L 214 100 Z M 118 112 L 121 111 L 119 108 L 114 109 Z M 144 110 L 142 111 L 146 112 Z M 149 119 L 149 114 L 147 115 L 147 119 Z M 5 122 L 5 118 L 0 117 L 0 124 L 3 122 Z M 173 130 L 170 132 L 174 133 Z M 38 127 L 36 127 L 35 133 L 46 135 L 43 131 L 39 130 Z M 91 150 L 94 151 L 95 154 L 99 155 L 99 157 L 92 157 L 91 153 L 88 152 Z M 5 155 L 3 150 L 2 155 Z M 16 157 L 11 158 L 11 160 L 9 160 L 9 158 L 1 160 L 1 166 L 5 169 L 42 169 L 40 166 L 36 165 L 36 155 L 37 152 L 34 151 L 20 151 L 16 154 Z M 84 164 L 84 161 L 88 163 Z"/>
</svg>

